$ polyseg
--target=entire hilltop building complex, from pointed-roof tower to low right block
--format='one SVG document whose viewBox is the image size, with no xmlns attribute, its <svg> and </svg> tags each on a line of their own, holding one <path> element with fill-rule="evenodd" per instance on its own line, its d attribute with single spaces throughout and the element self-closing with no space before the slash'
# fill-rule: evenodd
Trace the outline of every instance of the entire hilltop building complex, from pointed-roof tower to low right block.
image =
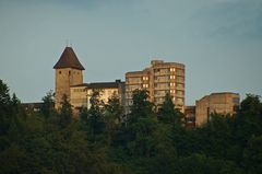
<svg viewBox="0 0 262 174">
<path fill-rule="evenodd" d="M 73 111 L 90 108 L 90 97 L 93 90 L 100 91 L 100 100 L 107 103 L 112 94 L 117 94 L 121 104 L 129 111 L 132 105 L 132 91 L 144 89 L 148 91 L 150 101 L 160 107 L 166 93 L 170 93 L 175 107 L 184 113 L 186 121 L 193 126 L 202 125 L 210 119 L 210 114 L 234 114 L 239 106 L 239 94 L 230 92 L 212 93 L 196 101 L 195 106 L 186 106 L 184 102 L 184 65 L 152 60 L 151 66 L 142 71 L 126 73 L 126 82 L 84 83 L 81 65 L 72 47 L 66 47 L 60 59 L 53 66 L 56 70 L 55 107 L 61 107 L 62 97 L 67 95 Z"/>
</svg>

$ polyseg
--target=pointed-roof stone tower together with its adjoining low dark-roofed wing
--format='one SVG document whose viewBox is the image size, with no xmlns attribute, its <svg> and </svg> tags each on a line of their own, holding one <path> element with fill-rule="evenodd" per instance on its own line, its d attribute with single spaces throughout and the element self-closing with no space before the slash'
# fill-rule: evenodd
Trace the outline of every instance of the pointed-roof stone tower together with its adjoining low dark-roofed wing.
<svg viewBox="0 0 262 174">
<path fill-rule="evenodd" d="M 115 93 L 119 95 L 122 105 L 124 105 L 124 82 L 121 82 L 121 80 L 83 83 L 83 71 L 85 69 L 72 47 L 64 48 L 53 69 L 56 70 L 55 107 L 57 109 L 61 107 L 63 95 L 68 96 L 74 112 L 80 111 L 82 107 L 90 108 L 90 97 L 93 90 L 100 91 L 100 98 L 105 103 Z"/>
</svg>

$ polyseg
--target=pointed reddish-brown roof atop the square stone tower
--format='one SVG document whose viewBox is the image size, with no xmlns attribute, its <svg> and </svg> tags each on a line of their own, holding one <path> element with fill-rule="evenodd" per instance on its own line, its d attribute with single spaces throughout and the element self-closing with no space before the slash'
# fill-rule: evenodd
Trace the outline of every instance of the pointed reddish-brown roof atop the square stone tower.
<svg viewBox="0 0 262 174">
<path fill-rule="evenodd" d="M 79 61 L 72 47 L 66 47 L 60 59 L 53 66 L 53 69 L 60 69 L 60 68 L 74 68 L 79 70 L 84 70 L 84 67 Z"/>
</svg>

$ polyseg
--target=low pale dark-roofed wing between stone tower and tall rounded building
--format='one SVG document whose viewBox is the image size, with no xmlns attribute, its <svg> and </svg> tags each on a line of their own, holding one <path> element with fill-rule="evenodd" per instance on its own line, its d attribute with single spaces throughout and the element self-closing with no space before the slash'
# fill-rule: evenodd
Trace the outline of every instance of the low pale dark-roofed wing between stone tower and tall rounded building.
<svg viewBox="0 0 262 174">
<path fill-rule="evenodd" d="M 94 90 L 98 90 L 100 100 L 106 104 L 114 94 L 118 95 L 122 105 L 124 105 L 124 82 L 116 80 L 115 82 L 82 83 L 70 88 L 70 103 L 75 111 L 81 107 L 91 107 L 90 98 Z"/>
</svg>

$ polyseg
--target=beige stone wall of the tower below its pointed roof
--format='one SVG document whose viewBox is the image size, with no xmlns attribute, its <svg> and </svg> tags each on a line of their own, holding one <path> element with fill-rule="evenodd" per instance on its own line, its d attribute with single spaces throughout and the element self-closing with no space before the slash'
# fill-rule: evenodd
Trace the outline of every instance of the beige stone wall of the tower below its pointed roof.
<svg viewBox="0 0 262 174">
<path fill-rule="evenodd" d="M 83 83 L 82 70 L 72 68 L 56 69 L 56 108 L 61 107 L 62 96 L 70 98 L 70 86 Z"/>
</svg>

